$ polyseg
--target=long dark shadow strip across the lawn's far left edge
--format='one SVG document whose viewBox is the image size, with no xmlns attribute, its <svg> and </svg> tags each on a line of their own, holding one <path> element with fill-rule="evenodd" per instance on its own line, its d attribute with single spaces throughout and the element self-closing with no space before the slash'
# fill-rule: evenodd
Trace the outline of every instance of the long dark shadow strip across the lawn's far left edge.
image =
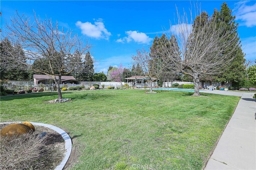
<svg viewBox="0 0 256 170">
<path fill-rule="evenodd" d="M 68 94 L 71 92 L 65 92 L 62 94 Z M 38 98 L 42 96 L 57 96 L 58 98 L 58 92 L 36 92 L 36 93 L 26 93 L 26 94 L 15 94 L 10 96 L 1 96 L 0 101 L 10 101 L 14 99 L 26 99 L 26 98 Z"/>
</svg>

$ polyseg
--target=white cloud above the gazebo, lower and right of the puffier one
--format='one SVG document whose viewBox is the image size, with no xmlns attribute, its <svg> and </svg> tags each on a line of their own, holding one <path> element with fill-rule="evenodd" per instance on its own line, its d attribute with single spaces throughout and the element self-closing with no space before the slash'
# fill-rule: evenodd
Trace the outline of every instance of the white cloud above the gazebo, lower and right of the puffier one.
<svg viewBox="0 0 256 170">
<path fill-rule="evenodd" d="M 126 41 L 127 43 L 129 43 L 130 41 L 134 41 L 136 43 L 148 44 L 153 40 L 152 38 L 148 37 L 148 35 L 146 35 L 146 33 L 140 33 L 137 31 L 125 31 L 125 33 L 128 36 L 120 38 L 120 39 L 116 40 L 116 42 L 124 43 Z"/>
</svg>

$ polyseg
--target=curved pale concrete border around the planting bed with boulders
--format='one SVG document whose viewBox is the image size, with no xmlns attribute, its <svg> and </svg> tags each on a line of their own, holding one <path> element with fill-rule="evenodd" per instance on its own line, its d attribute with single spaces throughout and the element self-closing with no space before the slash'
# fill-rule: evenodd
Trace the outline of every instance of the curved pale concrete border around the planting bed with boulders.
<svg viewBox="0 0 256 170">
<path fill-rule="evenodd" d="M 22 123 L 23 121 L 16 121 L 16 122 L 12 122 L 12 123 Z M 5 124 L 5 123 L 9 123 L 9 122 L 1 122 L 0 124 Z M 65 141 L 65 156 L 62 159 L 62 161 L 60 162 L 60 164 L 58 166 L 56 166 L 56 168 L 54 170 L 63 170 L 64 166 L 66 165 L 66 163 L 68 162 L 68 158 L 71 154 L 72 151 L 72 141 L 70 136 L 68 135 L 68 133 L 66 133 L 65 131 L 63 131 L 62 129 L 53 126 L 53 125 L 49 125 L 49 124 L 45 124 L 45 123 L 36 123 L 36 122 L 30 122 L 32 123 L 32 125 L 38 125 L 38 126 L 44 126 L 44 127 L 48 127 L 56 132 L 58 132 L 62 138 Z"/>
</svg>

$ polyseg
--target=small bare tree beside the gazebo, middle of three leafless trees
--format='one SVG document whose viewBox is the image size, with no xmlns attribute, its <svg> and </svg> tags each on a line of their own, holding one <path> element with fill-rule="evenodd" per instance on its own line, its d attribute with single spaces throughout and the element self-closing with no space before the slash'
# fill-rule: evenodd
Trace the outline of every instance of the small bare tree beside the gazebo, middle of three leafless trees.
<svg viewBox="0 0 256 170">
<path fill-rule="evenodd" d="M 158 80 L 164 69 L 164 63 L 161 58 L 150 55 L 145 49 L 137 50 L 137 55 L 132 56 L 134 63 L 139 64 L 142 68 L 143 74 L 147 76 L 150 81 L 150 92 L 152 92 L 152 82 Z"/>
</svg>

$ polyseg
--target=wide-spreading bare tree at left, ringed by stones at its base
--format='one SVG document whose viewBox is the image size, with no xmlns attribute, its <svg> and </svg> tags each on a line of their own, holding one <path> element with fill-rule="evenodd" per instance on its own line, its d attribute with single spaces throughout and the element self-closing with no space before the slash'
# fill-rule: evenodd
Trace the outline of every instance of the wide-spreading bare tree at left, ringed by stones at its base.
<svg viewBox="0 0 256 170">
<path fill-rule="evenodd" d="M 58 29 L 58 22 L 40 20 L 35 12 L 34 21 L 16 12 L 11 24 L 6 27 L 6 36 L 12 47 L 22 47 L 24 51 L 24 55 L 1 56 L 13 61 L 9 62 L 14 64 L 8 64 L 8 68 L 21 67 L 51 76 L 57 85 L 58 100 L 62 99 L 61 76 L 70 74 L 77 65 L 82 64 L 82 57 L 91 46 L 88 43 L 84 45 L 71 31 Z"/>
</svg>

